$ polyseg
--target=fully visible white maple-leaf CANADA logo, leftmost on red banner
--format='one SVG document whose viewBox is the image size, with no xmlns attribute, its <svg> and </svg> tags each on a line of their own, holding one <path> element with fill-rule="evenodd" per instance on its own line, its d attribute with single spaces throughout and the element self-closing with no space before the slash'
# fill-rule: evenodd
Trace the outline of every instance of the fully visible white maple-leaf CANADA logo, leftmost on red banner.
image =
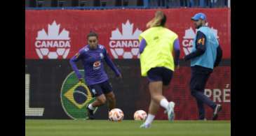
<svg viewBox="0 0 256 136">
<path fill-rule="evenodd" d="M 60 32 L 60 24 L 53 21 L 47 32 L 42 29 L 37 33 L 34 45 L 40 59 L 66 59 L 70 50 L 69 31 Z"/>
</svg>

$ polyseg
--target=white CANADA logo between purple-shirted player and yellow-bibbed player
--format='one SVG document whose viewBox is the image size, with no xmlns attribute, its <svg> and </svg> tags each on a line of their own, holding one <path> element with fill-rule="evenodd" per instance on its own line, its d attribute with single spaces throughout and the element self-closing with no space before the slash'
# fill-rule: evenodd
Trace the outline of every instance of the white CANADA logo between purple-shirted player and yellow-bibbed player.
<svg viewBox="0 0 256 136">
<path fill-rule="evenodd" d="M 114 59 L 138 59 L 139 53 L 139 36 L 142 31 L 136 29 L 133 32 L 133 24 L 126 21 L 122 23 L 122 32 L 118 28 L 112 31 L 112 36 L 109 41 L 110 51 Z"/>
</svg>

